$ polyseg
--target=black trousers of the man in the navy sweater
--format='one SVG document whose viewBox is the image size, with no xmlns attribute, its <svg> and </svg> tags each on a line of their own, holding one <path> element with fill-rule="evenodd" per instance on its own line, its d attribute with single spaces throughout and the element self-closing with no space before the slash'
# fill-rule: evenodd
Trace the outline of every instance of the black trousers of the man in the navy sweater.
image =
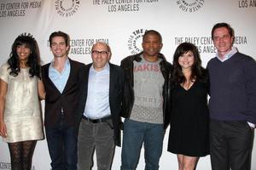
<svg viewBox="0 0 256 170">
<path fill-rule="evenodd" d="M 253 149 L 253 129 L 246 121 L 210 122 L 212 170 L 249 170 Z"/>
</svg>

